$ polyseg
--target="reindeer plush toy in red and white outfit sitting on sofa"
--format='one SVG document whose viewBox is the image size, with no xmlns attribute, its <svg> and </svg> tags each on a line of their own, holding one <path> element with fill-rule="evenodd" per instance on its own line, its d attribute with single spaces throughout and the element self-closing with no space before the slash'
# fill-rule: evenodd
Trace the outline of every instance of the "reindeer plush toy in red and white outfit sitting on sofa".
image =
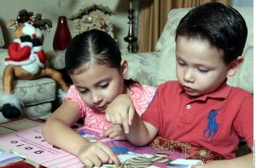
<svg viewBox="0 0 256 168">
<path fill-rule="evenodd" d="M 3 96 L 0 97 L 0 109 L 7 119 L 19 117 L 24 107 L 13 92 L 15 79 L 32 80 L 49 76 L 56 81 L 63 92 L 67 92 L 67 83 L 61 73 L 45 68 L 47 59 L 42 49 L 45 31 L 52 27 L 50 20 L 41 20 L 41 14 L 33 15 L 22 9 L 16 20 L 9 21 L 14 28 L 14 42 L 9 44 L 9 57 L 5 59 L 3 71 Z"/>
</svg>

